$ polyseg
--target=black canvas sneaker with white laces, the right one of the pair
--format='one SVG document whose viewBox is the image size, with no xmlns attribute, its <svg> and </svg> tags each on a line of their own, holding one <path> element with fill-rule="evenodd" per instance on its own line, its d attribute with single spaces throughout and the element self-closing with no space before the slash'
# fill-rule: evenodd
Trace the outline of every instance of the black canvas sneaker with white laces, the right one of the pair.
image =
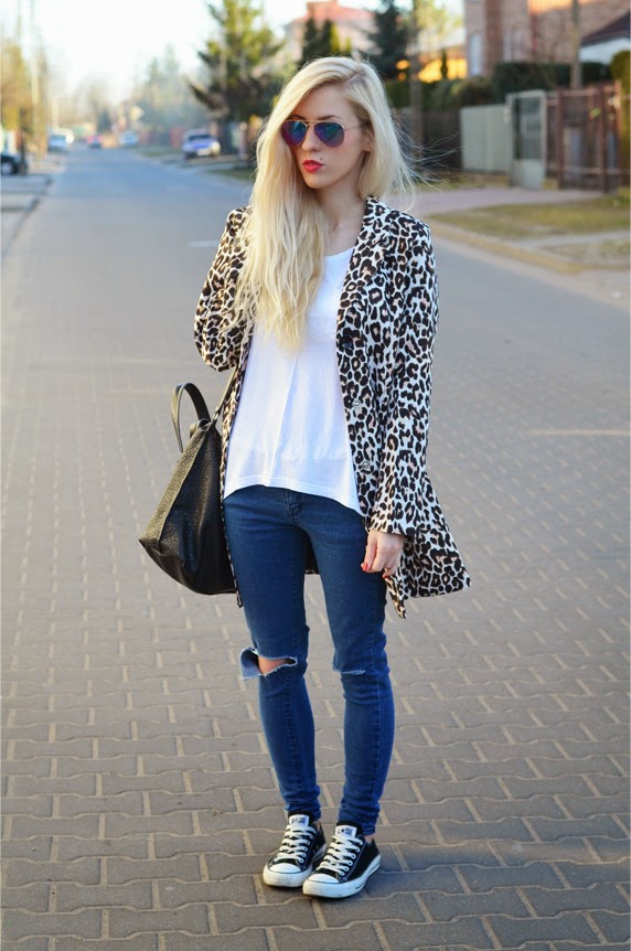
<svg viewBox="0 0 631 951">
<path fill-rule="evenodd" d="M 347 898 L 356 895 L 379 867 L 376 842 L 366 842 L 356 825 L 339 823 L 327 854 L 302 886 L 304 895 L 317 898 Z"/>
</svg>

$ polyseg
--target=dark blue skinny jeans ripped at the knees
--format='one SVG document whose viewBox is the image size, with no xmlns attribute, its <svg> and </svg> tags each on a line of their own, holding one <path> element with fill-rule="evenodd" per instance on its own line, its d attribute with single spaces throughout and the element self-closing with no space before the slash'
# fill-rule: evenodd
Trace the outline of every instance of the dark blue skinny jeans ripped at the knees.
<svg viewBox="0 0 631 951">
<path fill-rule="evenodd" d="M 344 791 L 339 821 L 372 835 L 394 741 L 394 702 L 384 634 L 385 583 L 361 565 L 366 531 L 332 499 L 250 485 L 224 500 L 228 546 L 253 647 L 244 678 L 258 677 L 263 728 L 289 813 L 320 818 L 316 730 L 304 672 L 307 538 L 324 590 L 333 669 L 344 693 Z M 263 676 L 257 655 L 287 663 Z"/>
</svg>

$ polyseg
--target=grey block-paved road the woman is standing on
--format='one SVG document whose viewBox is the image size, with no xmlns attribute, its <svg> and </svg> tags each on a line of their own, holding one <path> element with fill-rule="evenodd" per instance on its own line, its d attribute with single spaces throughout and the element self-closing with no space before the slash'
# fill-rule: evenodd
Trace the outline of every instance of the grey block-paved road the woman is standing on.
<svg viewBox="0 0 631 951">
<path fill-rule="evenodd" d="M 68 158 L 3 263 L 3 948 L 628 947 L 628 319 L 437 243 L 429 468 L 470 591 L 389 616 L 383 866 L 342 902 L 269 889 L 284 826 L 229 597 L 137 537 L 212 402 L 192 318 L 246 186 Z M 308 581 L 325 827 L 342 699 Z"/>
</svg>

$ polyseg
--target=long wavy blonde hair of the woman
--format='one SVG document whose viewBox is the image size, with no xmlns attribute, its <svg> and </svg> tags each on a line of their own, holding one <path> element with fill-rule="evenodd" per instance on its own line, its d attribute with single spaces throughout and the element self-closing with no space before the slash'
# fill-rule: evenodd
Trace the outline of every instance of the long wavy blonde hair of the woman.
<svg viewBox="0 0 631 951">
<path fill-rule="evenodd" d="M 373 66 L 327 56 L 303 66 L 284 87 L 257 142 L 258 171 L 252 212 L 242 232 L 245 263 L 235 298 L 235 321 L 256 322 L 289 349 L 300 348 L 307 312 L 322 276 L 324 213 L 280 135 L 298 104 L 322 86 L 336 86 L 370 131 L 359 180 L 361 199 L 411 192 L 383 83 Z"/>
</svg>

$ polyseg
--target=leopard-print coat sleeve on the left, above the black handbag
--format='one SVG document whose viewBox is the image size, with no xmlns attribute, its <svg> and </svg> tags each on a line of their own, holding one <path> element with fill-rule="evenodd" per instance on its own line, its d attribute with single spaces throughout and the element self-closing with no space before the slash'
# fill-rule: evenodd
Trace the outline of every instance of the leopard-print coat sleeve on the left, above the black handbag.
<svg viewBox="0 0 631 951">
<path fill-rule="evenodd" d="M 231 324 L 243 266 L 238 237 L 245 214 L 245 209 L 236 209 L 228 215 L 195 311 L 195 344 L 205 363 L 218 371 L 236 366 L 243 342 L 243 325 Z"/>
</svg>

